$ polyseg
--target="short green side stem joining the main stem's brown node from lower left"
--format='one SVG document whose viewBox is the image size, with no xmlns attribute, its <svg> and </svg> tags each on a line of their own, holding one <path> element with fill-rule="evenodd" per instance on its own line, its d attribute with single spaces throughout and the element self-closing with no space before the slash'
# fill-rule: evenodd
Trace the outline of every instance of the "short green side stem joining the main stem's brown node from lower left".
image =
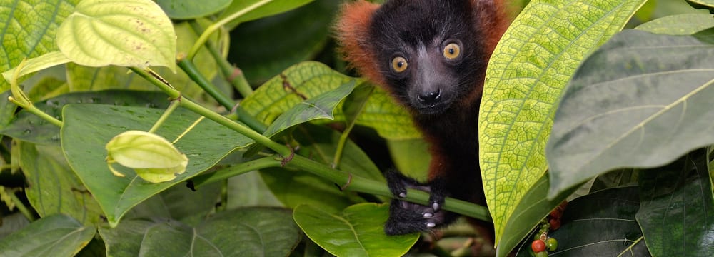
<svg viewBox="0 0 714 257">
<path fill-rule="evenodd" d="M 213 173 L 201 174 L 199 176 L 196 176 L 195 178 L 192 178 L 191 180 L 193 181 L 193 187 L 198 189 L 201 186 L 205 186 L 209 183 L 222 181 L 223 179 L 238 176 L 243 173 L 256 171 L 262 168 L 272 168 L 280 166 L 281 161 L 279 160 L 279 157 L 273 155 L 269 157 L 258 158 L 253 161 L 246 161 L 236 166 L 224 168 Z"/>
</svg>

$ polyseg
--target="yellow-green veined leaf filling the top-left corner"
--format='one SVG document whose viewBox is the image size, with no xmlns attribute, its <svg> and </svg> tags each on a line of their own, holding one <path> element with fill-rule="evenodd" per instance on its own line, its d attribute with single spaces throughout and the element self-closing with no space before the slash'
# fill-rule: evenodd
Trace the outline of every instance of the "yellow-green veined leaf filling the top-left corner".
<svg viewBox="0 0 714 257">
<path fill-rule="evenodd" d="M 33 58 L 59 50 L 54 38 L 59 24 L 79 0 L 19 0 L 0 2 L 0 72 Z M 0 79 L 0 92 L 10 84 Z"/>
</svg>

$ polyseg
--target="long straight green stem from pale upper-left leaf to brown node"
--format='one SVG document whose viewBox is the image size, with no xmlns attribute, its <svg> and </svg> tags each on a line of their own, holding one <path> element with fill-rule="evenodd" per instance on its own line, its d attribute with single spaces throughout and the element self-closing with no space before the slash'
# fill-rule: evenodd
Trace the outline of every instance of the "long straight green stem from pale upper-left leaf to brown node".
<svg viewBox="0 0 714 257">
<path fill-rule="evenodd" d="M 164 82 L 161 82 L 155 76 L 149 74 L 143 69 L 139 69 L 136 67 L 130 67 L 129 69 L 131 69 L 131 71 L 134 71 L 134 73 L 143 77 L 147 81 L 151 82 L 151 84 L 154 84 L 154 86 L 159 87 L 159 89 L 161 89 L 161 91 L 164 91 L 164 93 L 168 94 L 169 97 L 173 99 L 178 99 L 181 96 L 181 92 L 177 91 L 168 84 L 164 84 Z M 242 124 L 239 124 L 236 121 L 228 119 L 225 116 L 216 113 L 215 111 L 211 111 L 206 107 L 201 106 L 200 104 L 196 104 L 189 99 L 181 98 L 178 100 L 178 102 L 181 103 L 181 106 L 183 108 L 186 108 L 189 111 L 193 111 L 198 115 L 205 116 L 206 118 L 211 119 L 212 121 L 216 121 L 218 124 L 226 126 L 228 129 L 232 129 L 233 131 L 241 133 L 243 136 L 247 136 L 248 138 L 253 139 L 253 141 L 256 141 L 256 143 L 260 143 L 263 146 L 271 148 L 273 151 L 276 151 L 276 153 L 280 154 L 281 156 L 290 156 L 292 153 L 291 148 L 288 148 L 288 146 L 283 146 L 280 143 L 276 143 L 270 138 L 263 136 L 261 133 L 258 133 L 253 129 L 243 126 Z"/>
</svg>

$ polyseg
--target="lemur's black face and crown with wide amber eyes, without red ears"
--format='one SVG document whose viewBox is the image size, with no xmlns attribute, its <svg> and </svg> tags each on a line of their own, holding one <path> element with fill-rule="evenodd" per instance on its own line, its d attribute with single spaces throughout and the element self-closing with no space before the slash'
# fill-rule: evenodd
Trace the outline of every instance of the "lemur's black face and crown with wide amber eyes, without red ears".
<svg viewBox="0 0 714 257">
<path fill-rule="evenodd" d="M 374 13 L 369 48 L 398 101 L 418 114 L 441 114 L 471 94 L 488 59 L 472 13 L 464 0 L 393 0 Z"/>
</svg>

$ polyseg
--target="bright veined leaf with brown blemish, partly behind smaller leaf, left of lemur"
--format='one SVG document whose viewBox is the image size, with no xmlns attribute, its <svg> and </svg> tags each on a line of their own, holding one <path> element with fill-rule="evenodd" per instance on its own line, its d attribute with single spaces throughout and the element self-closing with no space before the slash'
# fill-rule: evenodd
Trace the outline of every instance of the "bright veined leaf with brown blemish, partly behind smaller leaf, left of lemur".
<svg viewBox="0 0 714 257">
<path fill-rule="evenodd" d="M 263 124 L 271 124 L 280 114 L 305 99 L 334 90 L 353 79 L 325 64 L 307 61 L 291 66 L 281 76 L 266 81 L 241 102 L 241 107 Z M 341 111 L 336 111 L 335 119 L 344 120 Z M 414 128 L 409 114 L 380 89 L 371 94 L 357 124 L 371 127 L 386 138 L 409 139 L 421 135 Z"/>
</svg>

